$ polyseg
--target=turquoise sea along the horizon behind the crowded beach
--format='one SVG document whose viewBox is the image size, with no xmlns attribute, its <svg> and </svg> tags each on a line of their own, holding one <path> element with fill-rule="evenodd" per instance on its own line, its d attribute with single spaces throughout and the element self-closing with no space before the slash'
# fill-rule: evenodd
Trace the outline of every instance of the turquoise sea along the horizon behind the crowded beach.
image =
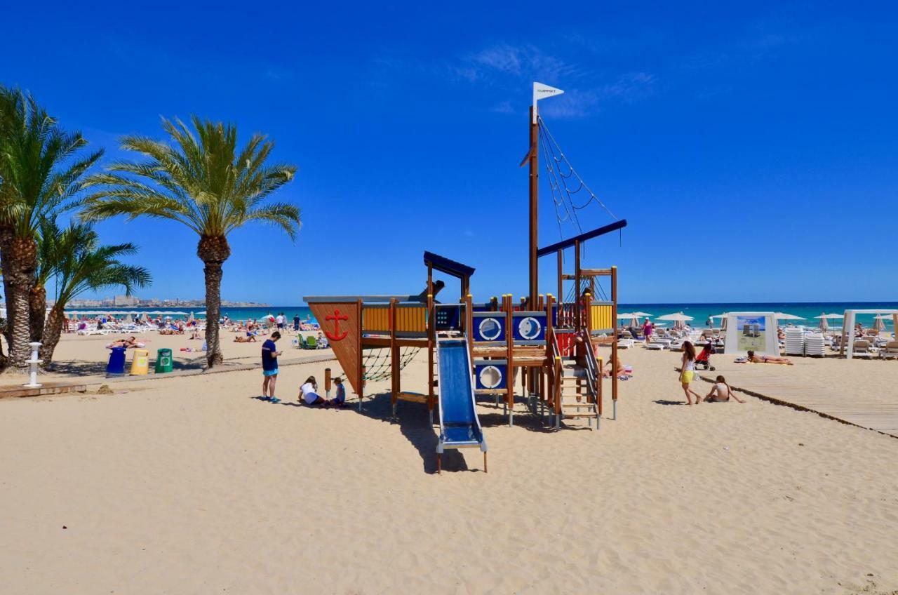
<svg viewBox="0 0 898 595">
<path fill-rule="evenodd" d="M 653 316 L 682 312 L 692 316 L 695 320 L 693 326 L 704 326 L 705 321 L 711 315 L 725 312 L 785 312 L 787 314 L 802 316 L 806 320 L 795 321 L 795 324 L 816 326 L 820 319 L 814 316 L 826 314 L 843 314 L 846 309 L 857 310 L 894 310 L 898 309 L 898 302 L 766 302 L 766 303 L 719 303 L 719 304 L 620 304 L 619 312 L 647 312 Z M 171 310 L 178 312 L 190 312 L 190 308 L 180 307 L 145 307 L 145 308 L 78 308 L 79 312 L 152 312 L 158 310 Z M 193 312 L 200 312 L 202 308 L 193 308 Z M 246 320 L 247 318 L 262 318 L 266 315 L 277 315 L 283 312 L 287 320 L 292 321 L 294 315 L 299 315 L 305 320 L 314 320 L 312 310 L 308 306 L 269 306 L 269 307 L 225 307 L 222 314 L 230 316 L 233 320 Z M 858 315 L 858 322 L 869 326 L 873 324 L 874 315 Z M 827 321 L 830 326 L 841 326 L 841 320 L 831 319 Z M 719 324 L 719 323 L 718 323 Z M 892 320 L 886 320 L 887 328 L 892 329 Z M 894 329 L 892 329 L 894 330 Z"/>
</svg>

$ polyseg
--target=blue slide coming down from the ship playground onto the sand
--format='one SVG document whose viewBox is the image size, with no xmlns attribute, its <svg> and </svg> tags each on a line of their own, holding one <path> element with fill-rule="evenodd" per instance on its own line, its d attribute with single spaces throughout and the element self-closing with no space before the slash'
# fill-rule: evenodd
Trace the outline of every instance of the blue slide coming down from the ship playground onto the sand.
<svg viewBox="0 0 898 595">
<path fill-rule="evenodd" d="M 441 471 L 445 448 L 480 447 L 487 470 L 487 441 L 474 410 L 471 354 L 466 339 L 442 339 L 436 343 L 439 359 L 440 440 L 436 445 L 436 470 Z"/>
</svg>

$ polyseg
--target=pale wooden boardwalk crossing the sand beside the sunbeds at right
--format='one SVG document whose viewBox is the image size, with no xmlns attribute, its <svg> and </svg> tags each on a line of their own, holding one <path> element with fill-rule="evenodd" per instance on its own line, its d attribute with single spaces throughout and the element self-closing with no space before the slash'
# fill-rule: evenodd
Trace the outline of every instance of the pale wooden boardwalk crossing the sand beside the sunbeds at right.
<svg viewBox="0 0 898 595">
<path fill-rule="evenodd" d="M 783 367 L 785 371 L 786 367 Z M 734 390 L 803 411 L 820 413 L 840 422 L 876 430 L 898 438 L 898 395 L 891 402 L 870 395 L 846 394 L 821 380 L 807 381 L 788 374 L 777 374 L 777 367 L 764 365 L 726 369 L 726 381 Z M 700 377 L 713 382 L 720 373 L 699 371 Z M 701 391 L 699 391 L 701 392 Z"/>
</svg>

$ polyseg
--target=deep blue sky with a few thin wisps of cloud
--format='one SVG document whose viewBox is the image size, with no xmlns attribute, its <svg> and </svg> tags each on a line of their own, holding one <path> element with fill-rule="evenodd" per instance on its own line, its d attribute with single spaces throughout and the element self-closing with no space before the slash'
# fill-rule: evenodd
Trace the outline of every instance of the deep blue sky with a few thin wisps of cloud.
<svg viewBox="0 0 898 595">
<path fill-rule="evenodd" d="M 894 299 L 894 4 L 428 4 L 12 4 L 0 81 L 110 159 L 161 115 L 273 138 L 304 227 L 235 232 L 225 299 L 417 292 L 426 249 L 476 267 L 477 297 L 523 295 L 533 80 L 566 90 L 542 115 L 629 220 L 585 259 L 620 267 L 622 302 Z M 140 245 L 140 295 L 202 297 L 188 229 L 100 231 Z"/>
</svg>

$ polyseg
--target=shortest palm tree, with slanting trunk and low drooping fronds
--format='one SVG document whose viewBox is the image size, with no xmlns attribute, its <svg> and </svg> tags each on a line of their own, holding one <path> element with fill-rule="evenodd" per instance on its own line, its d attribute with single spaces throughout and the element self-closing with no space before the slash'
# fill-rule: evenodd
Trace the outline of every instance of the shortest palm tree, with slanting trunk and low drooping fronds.
<svg viewBox="0 0 898 595">
<path fill-rule="evenodd" d="M 56 303 L 50 308 L 40 347 L 40 359 L 46 366 L 53 360 L 62 333 L 66 305 L 85 291 L 121 286 L 126 295 L 150 284 L 150 273 L 143 267 L 119 261 L 137 252 L 134 244 L 101 245 L 90 223 L 72 223 L 59 231 L 46 224 L 41 235 L 41 269 L 56 278 Z M 54 232 L 55 233 L 52 233 Z"/>
</svg>

